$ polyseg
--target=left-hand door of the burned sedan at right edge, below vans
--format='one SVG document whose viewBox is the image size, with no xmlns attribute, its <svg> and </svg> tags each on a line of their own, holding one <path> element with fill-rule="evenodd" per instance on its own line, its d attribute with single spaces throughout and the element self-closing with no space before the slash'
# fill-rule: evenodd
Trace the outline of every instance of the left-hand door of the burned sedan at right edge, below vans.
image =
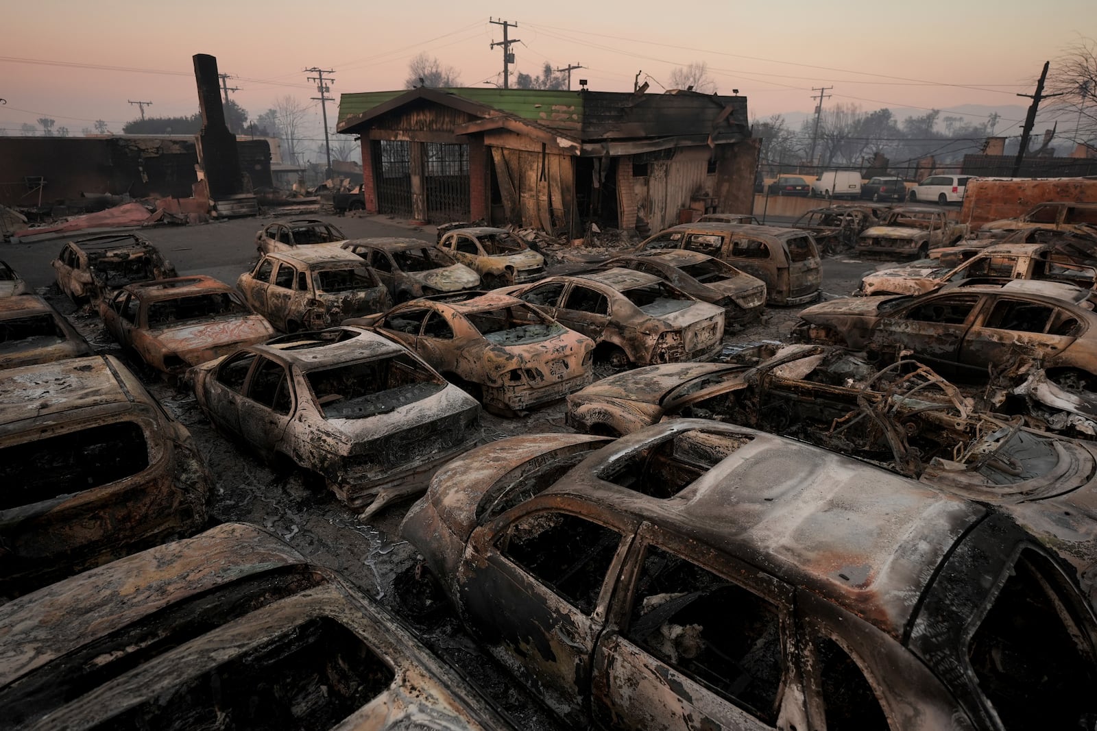
<svg viewBox="0 0 1097 731">
<path fill-rule="evenodd" d="M 934 293 L 919 297 L 878 321 L 871 335 L 872 347 L 892 355 L 909 350 L 918 361 L 951 372 L 980 300 L 975 294 Z"/>
</svg>

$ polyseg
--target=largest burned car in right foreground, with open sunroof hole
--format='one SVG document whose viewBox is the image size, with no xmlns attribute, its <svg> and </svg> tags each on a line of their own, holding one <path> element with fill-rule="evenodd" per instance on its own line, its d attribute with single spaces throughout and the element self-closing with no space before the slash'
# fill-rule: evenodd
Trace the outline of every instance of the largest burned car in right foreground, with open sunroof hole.
<svg viewBox="0 0 1097 731">
<path fill-rule="evenodd" d="M 989 731 L 1097 712 L 1097 624 L 1059 556 L 996 509 L 746 427 L 500 439 L 439 470 L 402 534 L 576 726 Z"/>
</svg>

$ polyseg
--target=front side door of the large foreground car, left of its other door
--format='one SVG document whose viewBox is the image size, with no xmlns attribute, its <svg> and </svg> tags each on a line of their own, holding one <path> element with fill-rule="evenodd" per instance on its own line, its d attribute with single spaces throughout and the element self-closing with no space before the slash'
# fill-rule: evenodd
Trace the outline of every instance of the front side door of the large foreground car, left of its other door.
<svg viewBox="0 0 1097 731">
<path fill-rule="evenodd" d="M 631 536 L 627 524 L 530 501 L 473 530 L 457 571 L 465 620 L 575 724 L 585 724 L 591 655 Z"/>
</svg>

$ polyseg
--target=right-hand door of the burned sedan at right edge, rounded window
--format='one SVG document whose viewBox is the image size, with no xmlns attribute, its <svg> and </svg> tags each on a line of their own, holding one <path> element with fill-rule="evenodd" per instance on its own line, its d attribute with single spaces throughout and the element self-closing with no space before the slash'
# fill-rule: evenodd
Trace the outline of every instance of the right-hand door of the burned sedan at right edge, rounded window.
<svg viewBox="0 0 1097 731">
<path fill-rule="evenodd" d="M 989 299 L 960 349 L 960 363 L 969 373 L 985 374 L 991 364 L 1003 368 L 1022 355 L 1042 362 L 1054 358 L 1082 328 L 1078 318 L 1062 307 L 1009 296 Z"/>
</svg>

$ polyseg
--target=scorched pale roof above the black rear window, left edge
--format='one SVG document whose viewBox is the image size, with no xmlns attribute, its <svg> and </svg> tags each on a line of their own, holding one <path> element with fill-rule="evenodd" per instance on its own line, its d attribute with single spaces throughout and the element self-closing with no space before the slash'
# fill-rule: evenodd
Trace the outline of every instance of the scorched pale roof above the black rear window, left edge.
<svg viewBox="0 0 1097 731">
<path fill-rule="evenodd" d="M 0 370 L 0 425 L 147 401 L 136 378 L 110 355 L 5 368 Z"/>
</svg>

